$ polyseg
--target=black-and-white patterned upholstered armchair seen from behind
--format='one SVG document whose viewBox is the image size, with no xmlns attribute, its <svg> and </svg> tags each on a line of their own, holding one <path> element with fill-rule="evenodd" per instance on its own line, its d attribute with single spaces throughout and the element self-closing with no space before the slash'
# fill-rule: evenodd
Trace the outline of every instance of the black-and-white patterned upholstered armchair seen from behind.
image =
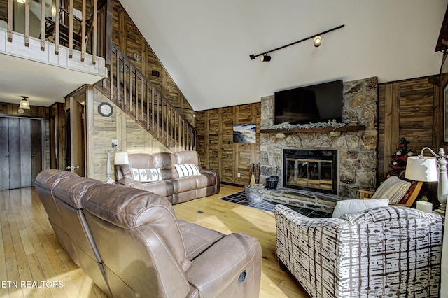
<svg viewBox="0 0 448 298">
<path fill-rule="evenodd" d="M 442 217 L 383 206 L 307 218 L 277 205 L 276 254 L 311 297 L 438 297 Z"/>
</svg>

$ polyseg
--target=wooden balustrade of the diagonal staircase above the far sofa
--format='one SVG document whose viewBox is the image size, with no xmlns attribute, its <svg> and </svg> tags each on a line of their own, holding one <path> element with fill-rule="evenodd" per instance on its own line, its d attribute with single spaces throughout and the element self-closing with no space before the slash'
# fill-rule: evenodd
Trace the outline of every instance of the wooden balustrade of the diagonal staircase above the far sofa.
<svg viewBox="0 0 448 298">
<path fill-rule="evenodd" d="M 196 129 L 115 45 L 109 78 L 95 87 L 169 150 L 196 150 Z"/>
</svg>

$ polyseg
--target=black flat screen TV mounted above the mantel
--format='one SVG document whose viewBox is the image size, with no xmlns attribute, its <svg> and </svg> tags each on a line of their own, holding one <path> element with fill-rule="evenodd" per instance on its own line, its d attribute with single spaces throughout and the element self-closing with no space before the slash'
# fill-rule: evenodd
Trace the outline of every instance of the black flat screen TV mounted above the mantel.
<svg viewBox="0 0 448 298">
<path fill-rule="evenodd" d="M 275 124 L 342 122 L 342 80 L 277 91 Z"/>
</svg>

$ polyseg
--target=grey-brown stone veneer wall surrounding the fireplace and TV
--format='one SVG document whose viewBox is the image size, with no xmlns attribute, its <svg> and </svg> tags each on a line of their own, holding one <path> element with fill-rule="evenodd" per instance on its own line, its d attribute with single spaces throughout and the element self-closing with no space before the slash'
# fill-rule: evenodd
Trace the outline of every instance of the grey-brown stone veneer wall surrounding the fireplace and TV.
<svg viewBox="0 0 448 298">
<path fill-rule="evenodd" d="M 344 83 L 343 121 L 358 119 L 365 130 L 356 132 L 262 133 L 260 141 L 260 183 L 281 169 L 282 149 L 325 149 L 338 152 L 340 197 L 356 197 L 358 189 L 377 185 L 378 78 Z M 274 124 L 274 96 L 261 99 L 261 129 Z M 280 174 L 279 169 L 279 176 Z M 279 181 L 279 187 L 283 181 Z"/>
</svg>

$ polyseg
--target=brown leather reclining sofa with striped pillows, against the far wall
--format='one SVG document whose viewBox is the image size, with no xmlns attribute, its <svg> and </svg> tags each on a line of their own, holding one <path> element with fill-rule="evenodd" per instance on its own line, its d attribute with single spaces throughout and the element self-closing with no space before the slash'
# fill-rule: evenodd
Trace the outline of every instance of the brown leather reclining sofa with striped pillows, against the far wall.
<svg viewBox="0 0 448 298">
<path fill-rule="evenodd" d="M 172 204 L 217 194 L 221 187 L 218 171 L 202 168 L 196 151 L 136 153 L 129 155 L 129 161 L 115 166 L 118 183 L 160 194 Z M 176 164 L 194 164 L 200 175 L 179 177 Z M 162 180 L 141 183 L 133 178 L 132 169 L 160 169 Z"/>
</svg>

